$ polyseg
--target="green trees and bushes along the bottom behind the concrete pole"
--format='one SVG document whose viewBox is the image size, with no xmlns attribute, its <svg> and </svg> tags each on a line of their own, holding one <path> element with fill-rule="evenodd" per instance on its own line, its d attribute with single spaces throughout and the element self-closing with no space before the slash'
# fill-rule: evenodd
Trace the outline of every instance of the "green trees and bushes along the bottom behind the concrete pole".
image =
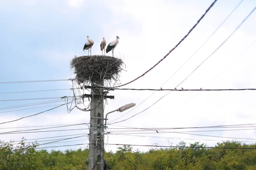
<svg viewBox="0 0 256 170">
<path fill-rule="evenodd" d="M 186 145 L 180 142 L 175 148 L 149 148 L 147 152 L 119 147 L 105 153 L 108 170 L 256 170 L 256 144 L 222 142 L 215 147 L 250 149 L 207 149 L 205 144 Z M 184 147 L 189 146 L 192 148 Z M 37 144 L 0 142 L 0 170 L 87 170 L 88 150 L 35 150 Z"/>
</svg>

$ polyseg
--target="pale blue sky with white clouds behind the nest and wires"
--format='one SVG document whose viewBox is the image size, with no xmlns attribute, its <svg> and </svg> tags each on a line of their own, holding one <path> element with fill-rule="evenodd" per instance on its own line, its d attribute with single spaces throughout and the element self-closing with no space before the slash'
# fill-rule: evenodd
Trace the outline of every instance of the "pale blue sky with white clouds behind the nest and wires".
<svg viewBox="0 0 256 170">
<path fill-rule="evenodd" d="M 107 43 L 115 40 L 116 35 L 120 37 L 119 44 L 114 51 L 115 57 L 121 57 L 126 65 L 126 71 L 122 72 L 120 81 L 121 83 L 131 81 L 163 58 L 163 56 L 184 37 L 190 28 L 192 28 L 212 1 L 213 0 L 1 1 L 0 51 L 2 62 L 0 62 L 0 82 L 73 78 L 73 72 L 70 71 L 70 60 L 75 55 L 81 56 L 87 54 L 87 51 L 84 52 L 82 50 L 84 43 L 87 41 L 87 35 L 94 40 L 92 48 L 93 55 L 101 54 L 99 44 L 102 37 L 105 37 Z M 124 86 L 124 88 L 175 88 L 230 36 L 256 6 L 254 0 L 244 0 L 192 59 L 190 59 L 177 74 L 172 76 L 195 51 L 197 51 L 216 28 L 220 26 L 224 19 L 240 2 L 241 0 L 217 1 L 204 19 L 175 51 L 144 77 Z M 255 88 L 255 20 L 256 12 L 251 14 L 232 37 L 218 48 L 206 62 L 177 88 Z M 170 79 L 170 77 L 172 78 Z M 165 84 L 163 85 L 163 83 Z M 52 101 L 57 98 L 44 100 L 35 98 L 59 97 L 58 99 L 60 99 L 61 96 L 73 95 L 71 90 L 27 93 L 8 92 L 70 88 L 72 88 L 70 81 L 0 84 L 0 123 L 46 111 L 47 109 L 55 107 L 53 105 L 64 104 L 63 100 L 57 102 Z M 111 113 L 108 116 L 108 121 L 113 121 L 120 116 L 122 117 L 113 122 L 122 121 L 140 113 L 169 92 L 157 91 L 150 96 L 152 93 L 153 91 L 111 91 L 110 95 L 114 95 L 115 99 L 108 99 L 108 104 L 105 105 L 105 113 L 131 102 L 135 102 L 137 107 L 122 113 Z M 255 123 L 254 119 L 256 118 L 255 95 L 256 91 L 172 91 L 146 111 L 127 121 L 108 125 L 108 127 L 122 128 L 116 126 L 119 125 L 143 128 L 171 128 L 251 124 Z M 148 98 L 148 96 L 150 97 Z M 3 101 L 10 99 L 32 100 Z M 143 102 L 144 100 L 145 102 Z M 40 103 L 44 105 L 38 105 L 38 102 L 47 103 Z M 31 105 L 26 107 L 17 106 L 25 104 Z M 21 109 L 28 110 L 16 111 Z M 37 116 L 2 124 L 0 125 L 0 128 L 2 128 L 0 132 L 40 128 L 3 129 L 6 127 L 67 125 L 88 122 L 90 122 L 89 112 L 74 109 L 72 112 L 68 113 L 66 107 L 62 106 Z M 78 125 L 47 129 L 67 129 L 67 131 L 0 134 L 0 139 L 4 141 L 20 140 L 22 136 L 26 139 L 65 135 L 74 135 L 76 137 L 79 136 L 76 134 L 88 133 L 88 130 L 84 130 L 85 128 L 87 128 L 86 125 Z M 249 127 L 246 129 L 248 128 Z M 200 141 L 207 143 L 209 146 L 214 146 L 214 144 L 220 140 L 230 139 L 212 136 L 251 138 L 255 140 L 234 140 L 253 143 L 256 141 L 256 131 L 253 128 L 255 127 L 250 127 L 252 130 L 187 132 L 192 133 L 190 135 L 180 133 L 155 133 L 154 131 L 149 134 L 136 132 L 140 134 L 130 134 L 130 136 L 109 134 L 108 137 L 105 136 L 105 139 L 108 139 L 109 144 L 150 145 L 157 143 L 159 145 L 169 145 L 169 142 L 171 142 L 173 145 L 176 145 L 180 140 L 183 140 L 187 143 Z M 121 129 L 107 130 L 120 131 Z M 216 129 L 163 131 L 184 132 L 195 130 Z M 224 130 L 224 128 L 218 130 Z M 196 134 L 209 136 L 198 136 Z M 51 139 L 57 140 L 67 137 Z M 86 147 L 87 145 L 85 143 L 88 143 L 88 140 L 87 137 L 84 137 L 63 142 L 65 143 L 52 143 L 40 147 L 84 144 L 54 148 L 58 150 L 74 149 Z M 134 149 L 137 148 L 143 151 L 148 150 L 148 147 L 134 147 Z M 50 149 L 52 148 L 49 148 L 49 150 Z M 107 145 L 106 150 L 116 150 L 116 146 Z"/>
</svg>

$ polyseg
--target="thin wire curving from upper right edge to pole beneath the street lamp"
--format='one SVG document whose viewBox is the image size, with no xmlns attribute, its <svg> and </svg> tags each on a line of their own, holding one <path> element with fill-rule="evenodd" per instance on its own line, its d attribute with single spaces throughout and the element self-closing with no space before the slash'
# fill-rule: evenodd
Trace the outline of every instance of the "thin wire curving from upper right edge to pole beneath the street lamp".
<svg viewBox="0 0 256 170">
<path fill-rule="evenodd" d="M 253 8 L 253 10 L 247 15 L 247 17 L 244 18 L 244 20 L 239 24 L 239 26 L 236 27 L 236 29 L 226 38 L 226 40 L 224 40 L 224 42 L 221 43 L 221 45 L 218 46 L 218 48 L 216 48 L 212 54 L 210 54 L 206 59 L 204 59 L 203 62 L 201 62 L 185 79 L 183 79 L 182 82 L 180 82 L 180 84 L 178 84 L 175 88 L 177 88 L 179 85 L 181 85 L 184 81 L 186 81 L 186 79 L 188 79 L 207 59 L 209 59 L 213 54 L 215 54 L 216 51 L 218 51 L 219 48 L 221 48 L 222 45 L 224 45 L 225 42 L 227 42 L 227 40 L 230 39 L 230 37 L 240 28 L 240 26 L 247 20 L 248 17 L 250 17 L 250 15 L 255 11 L 256 9 L 256 6 Z M 150 105 L 148 108 L 144 109 L 143 111 L 127 118 L 127 119 L 124 119 L 122 121 L 119 121 L 119 122 L 114 122 L 114 123 L 111 123 L 111 124 L 115 124 L 115 123 L 120 123 L 120 122 L 124 122 L 128 119 L 131 119 L 132 117 L 134 116 L 137 116 L 138 114 L 140 113 L 143 113 L 144 111 L 148 110 L 149 108 L 151 108 L 153 105 L 155 105 L 157 102 L 159 102 L 161 99 L 163 99 L 163 97 L 165 97 L 166 95 L 168 95 L 169 93 L 171 93 L 172 91 L 169 91 L 167 94 L 165 94 L 164 96 L 162 96 L 160 99 L 158 99 L 156 102 L 154 102 L 152 105 Z M 126 113 L 127 114 L 127 113 Z M 125 116 L 125 114 L 123 115 Z M 119 118 L 118 118 L 119 119 Z M 111 125 L 110 124 L 110 125 Z"/>
</svg>

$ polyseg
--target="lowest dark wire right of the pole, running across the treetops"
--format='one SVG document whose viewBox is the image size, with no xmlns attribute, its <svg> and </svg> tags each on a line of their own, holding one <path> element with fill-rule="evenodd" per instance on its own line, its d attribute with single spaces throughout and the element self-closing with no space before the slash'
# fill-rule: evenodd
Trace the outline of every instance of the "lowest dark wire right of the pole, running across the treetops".
<svg viewBox="0 0 256 170">
<path fill-rule="evenodd" d="M 190 147 L 190 146 L 163 146 L 163 145 L 142 145 L 142 144 L 110 144 L 122 146 L 147 146 L 147 147 L 175 147 L 175 148 L 201 148 L 201 149 L 256 149 L 256 147 Z"/>
</svg>

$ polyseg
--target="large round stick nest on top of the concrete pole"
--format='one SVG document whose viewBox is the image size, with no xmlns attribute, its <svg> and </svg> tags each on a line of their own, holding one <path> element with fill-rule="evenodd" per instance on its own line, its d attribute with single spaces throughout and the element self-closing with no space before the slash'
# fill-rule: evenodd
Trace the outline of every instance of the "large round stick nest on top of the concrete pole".
<svg viewBox="0 0 256 170">
<path fill-rule="evenodd" d="M 117 81 L 123 64 L 122 59 L 110 56 L 75 56 L 70 67 L 76 74 L 76 81 L 81 84 L 101 79 Z"/>
</svg>

